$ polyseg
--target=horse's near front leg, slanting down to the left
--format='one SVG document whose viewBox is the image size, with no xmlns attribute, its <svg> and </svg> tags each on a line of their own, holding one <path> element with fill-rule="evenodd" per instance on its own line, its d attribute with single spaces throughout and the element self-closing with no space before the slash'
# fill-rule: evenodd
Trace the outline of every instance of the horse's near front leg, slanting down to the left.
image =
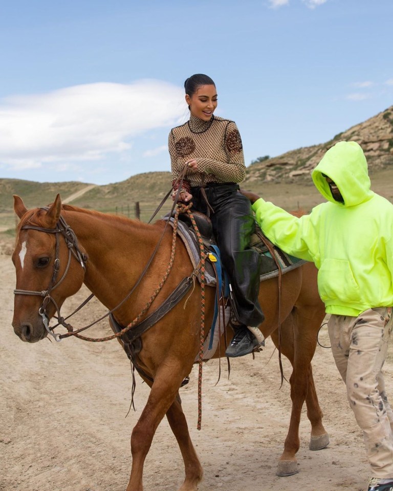
<svg viewBox="0 0 393 491">
<path fill-rule="evenodd" d="M 183 378 L 184 367 L 166 363 L 160 367 L 151 386 L 146 406 L 131 434 L 133 464 L 126 491 L 143 491 L 142 475 L 151 441 L 165 413 L 176 397 Z"/>
</svg>

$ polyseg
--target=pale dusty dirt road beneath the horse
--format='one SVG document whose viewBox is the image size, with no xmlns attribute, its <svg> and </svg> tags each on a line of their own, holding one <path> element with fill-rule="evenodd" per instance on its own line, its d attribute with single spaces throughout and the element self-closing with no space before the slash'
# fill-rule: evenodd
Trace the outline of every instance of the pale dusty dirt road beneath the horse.
<svg viewBox="0 0 393 491">
<path fill-rule="evenodd" d="M 85 343 L 43 340 L 28 345 L 13 333 L 14 270 L 0 255 L 3 308 L 0 343 L 0 489 L 2 491 L 124 491 L 130 471 L 129 436 L 143 409 L 148 387 L 137 379 L 136 412 L 126 416 L 132 377 L 116 341 Z M 69 310 L 87 296 L 83 291 Z M 67 309 L 64 309 L 64 313 Z M 88 304 L 75 326 L 104 309 Z M 106 323 L 94 334 L 108 332 Z M 324 329 L 321 341 L 329 344 Z M 290 416 L 289 384 L 281 389 L 277 353 L 268 340 L 263 352 L 232 362 L 215 386 L 218 361 L 204 366 L 202 431 L 197 431 L 197 369 L 181 389 L 191 438 L 205 477 L 200 491 L 362 491 L 368 478 L 360 431 L 347 407 L 344 384 L 329 349 L 318 346 L 314 374 L 324 424 L 325 450 L 308 449 L 310 425 L 303 413 L 300 472 L 275 476 Z M 225 361 L 222 368 L 225 368 Z M 285 373 L 290 376 L 289 364 Z M 386 363 L 391 394 L 393 364 Z M 390 389 L 390 390 L 389 390 Z M 145 491 L 175 491 L 183 480 L 176 440 L 164 420 L 146 459 Z"/>
</svg>

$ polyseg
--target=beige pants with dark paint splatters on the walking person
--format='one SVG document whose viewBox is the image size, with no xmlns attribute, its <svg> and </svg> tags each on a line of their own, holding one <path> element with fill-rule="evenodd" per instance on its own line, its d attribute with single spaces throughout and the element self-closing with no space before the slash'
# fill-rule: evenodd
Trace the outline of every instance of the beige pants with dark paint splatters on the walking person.
<svg viewBox="0 0 393 491">
<path fill-rule="evenodd" d="M 348 401 L 363 431 L 372 476 L 393 478 L 393 412 L 382 366 L 392 329 L 392 307 L 365 310 L 358 317 L 332 315 L 332 352 L 346 384 Z"/>
</svg>

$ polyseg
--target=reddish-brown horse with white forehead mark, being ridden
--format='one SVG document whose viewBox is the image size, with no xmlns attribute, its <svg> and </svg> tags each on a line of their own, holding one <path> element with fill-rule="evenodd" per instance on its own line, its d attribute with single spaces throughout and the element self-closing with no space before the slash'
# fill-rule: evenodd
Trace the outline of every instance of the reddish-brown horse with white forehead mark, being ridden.
<svg viewBox="0 0 393 491">
<path fill-rule="evenodd" d="M 115 311 L 119 324 L 126 326 L 138 316 L 165 275 L 172 232 L 168 227 L 163 234 L 165 225 L 161 220 L 148 225 L 124 217 L 62 206 L 59 195 L 49 208 L 33 210 L 27 210 L 23 200 L 14 196 L 14 210 L 20 218 L 12 256 L 16 268 L 16 293 L 19 290 L 19 293 L 24 291 L 25 294 L 15 295 L 12 325 L 23 341 L 34 343 L 45 338 L 48 335 L 45 321 L 56 314 L 54 302 L 60 307 L 66 298 L 79 290 L 82 283 L 108 309 L 117 307 L 138 282 L 161 236 L 161 244 L 146 274 L 130 297 Z M 75 248 L 67 247 L 66 241 L 55 233 L 59 219 L 64 220 L 75 234 L 73 237 L 77 237 L 76 249 L 79 252 L 75 254 L 76 259 L 70 254 L 70 250 L 75 252 Z M 57 270 L 55 278 L 54 272 Z M 192 271 L 183 242 L 177 239 L 173 268 L 157 296 L 157 305 Z M 45 296 L 48 285 L 53 302 L 42 301 L 37 294 L 43 292 L 42 296 Z M 151 390 L 131 436 L 133 461 L 126 491 L 142 491 L 144 460 L 165 415 L 184 460 L 185 480 L 180 491 L 195 491 L 202 479 L 202 467 L 191 443 L 179 397 L 181 383 L 190 373 L 200 346 L 200 284 L 195 282 L 190 292 L 186 295 L 186 308 L 183 299 L 142 334 L 142 349 L 137 360 L 142 378 Z M 214 288 L 207 288 L 206 325 L 211 323 L 214 297 Z M 311 369 L 317 332 L 324 317 L 314 265 L 306 263 L 282 276 L 280 309 L 277 279 L 262 282 L 259 297 L 266 317 L 261 331 L 265 337 L 271 335 L 277 345 L 278 318 L 281 319 L 281 350 L 293 366 L 290 378 L 291 421 L 277 471 L 278 475 L 290 475 L 297 472 L 295 454 L 299 449 L 298 430 L 304 400 L 311 422 L 310 449 L 324 448 L 329 442 L 322 426 L 322 411 Z M 156 303 L 150 310 L 155 310 Z M 227 339 L 231 339 L 231 335 L 229 332 Z M 221 355 L 225 351 L 224 337 L 222 341 Z M 219 355 L 216 353 L 216 356 Z"/>
</svg>

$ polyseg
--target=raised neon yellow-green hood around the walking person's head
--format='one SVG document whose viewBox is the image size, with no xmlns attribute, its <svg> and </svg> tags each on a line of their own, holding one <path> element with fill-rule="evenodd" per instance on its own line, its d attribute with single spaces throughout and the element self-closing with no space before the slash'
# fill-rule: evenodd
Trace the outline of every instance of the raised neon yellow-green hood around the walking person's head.
<svg viewBox="0 0 393 491">
<path fill-rule="evenodd" d="M 338 203 L 334 199 L 322 174 L 336 183 L 344 203 Z M 336 143 L 323 155 L 311 175 L 322 196 L 341 206 L 359 205 L 374 195 L 370 190 L 366 158 L 361 146 L 356 142 Z"/>
</svg>

